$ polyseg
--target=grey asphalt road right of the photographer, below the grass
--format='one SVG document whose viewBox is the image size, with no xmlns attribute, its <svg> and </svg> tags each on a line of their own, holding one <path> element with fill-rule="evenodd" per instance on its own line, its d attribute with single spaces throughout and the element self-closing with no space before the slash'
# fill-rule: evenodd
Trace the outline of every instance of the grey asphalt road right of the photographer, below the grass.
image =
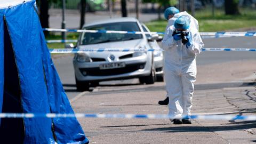
<svg viewBox="0 0 256 144">
<path fill-rule="evenodd" d="M 206 48 L 256 48 L 255 37 L 205 38 Z M 256 59 L 255 52 L 202 52 L 197 65 Z"/>
</svg>

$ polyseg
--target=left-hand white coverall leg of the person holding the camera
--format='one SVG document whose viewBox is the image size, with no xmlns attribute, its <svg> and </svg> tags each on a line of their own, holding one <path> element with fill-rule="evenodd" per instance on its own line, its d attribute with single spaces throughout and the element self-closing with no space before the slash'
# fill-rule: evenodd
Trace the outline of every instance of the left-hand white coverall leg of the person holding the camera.
<svg viewBox="0 0 256 144">
<path fill-rule="evenodd" d="M 182 98 L 181 77 L 169 70 L 165 71 L 165 77 L 167 97 L 169 97 L 169 115 L 181 117 L 183 111 L 180 105 Z"/>
</svg>

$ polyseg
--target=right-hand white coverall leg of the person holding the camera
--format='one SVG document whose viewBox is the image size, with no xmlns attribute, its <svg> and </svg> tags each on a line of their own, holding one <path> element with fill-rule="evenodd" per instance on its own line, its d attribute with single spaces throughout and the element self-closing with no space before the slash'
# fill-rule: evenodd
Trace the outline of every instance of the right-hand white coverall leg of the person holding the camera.
<svg viewBox="0 0 256 144">
<path fill-rule="evenodd" d="M 196 82 L 195 73 L 186 73 L 181 76 L 182 83 L 182 115 L 190 115 L 192 107 L 192 96 L 194 93 L 194 84 Z"/>
</svg>

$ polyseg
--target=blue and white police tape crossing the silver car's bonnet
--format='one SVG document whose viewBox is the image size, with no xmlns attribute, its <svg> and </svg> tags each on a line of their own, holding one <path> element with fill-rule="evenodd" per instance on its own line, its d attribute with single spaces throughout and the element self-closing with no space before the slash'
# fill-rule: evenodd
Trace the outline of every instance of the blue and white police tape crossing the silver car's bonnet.
<svg viewBox="0 0 256 144">
<path fill-rule="evenodd" d="M 85 52 L 154 52 L 164 51 L 163 49 L 49 49 L 50 53 L 85 53 Z M 204 48 L 202 51 L 244 51 L 256 52 L 256 49 L 247 48 Z"/>
</svg>

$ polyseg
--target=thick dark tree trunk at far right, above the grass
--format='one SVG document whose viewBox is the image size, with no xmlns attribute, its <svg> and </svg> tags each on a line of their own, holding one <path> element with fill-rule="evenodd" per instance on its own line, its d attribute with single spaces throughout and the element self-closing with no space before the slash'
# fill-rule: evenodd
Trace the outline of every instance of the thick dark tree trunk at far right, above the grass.
<svg viewBox="0 0 256 144">
<path fill-rule="evenodd" d="M 238 9 L 238 2 L 237 0 L 226 0 L 225 1 L 225 13 L 226 14 L 240 14 Z"/>
</svg>

